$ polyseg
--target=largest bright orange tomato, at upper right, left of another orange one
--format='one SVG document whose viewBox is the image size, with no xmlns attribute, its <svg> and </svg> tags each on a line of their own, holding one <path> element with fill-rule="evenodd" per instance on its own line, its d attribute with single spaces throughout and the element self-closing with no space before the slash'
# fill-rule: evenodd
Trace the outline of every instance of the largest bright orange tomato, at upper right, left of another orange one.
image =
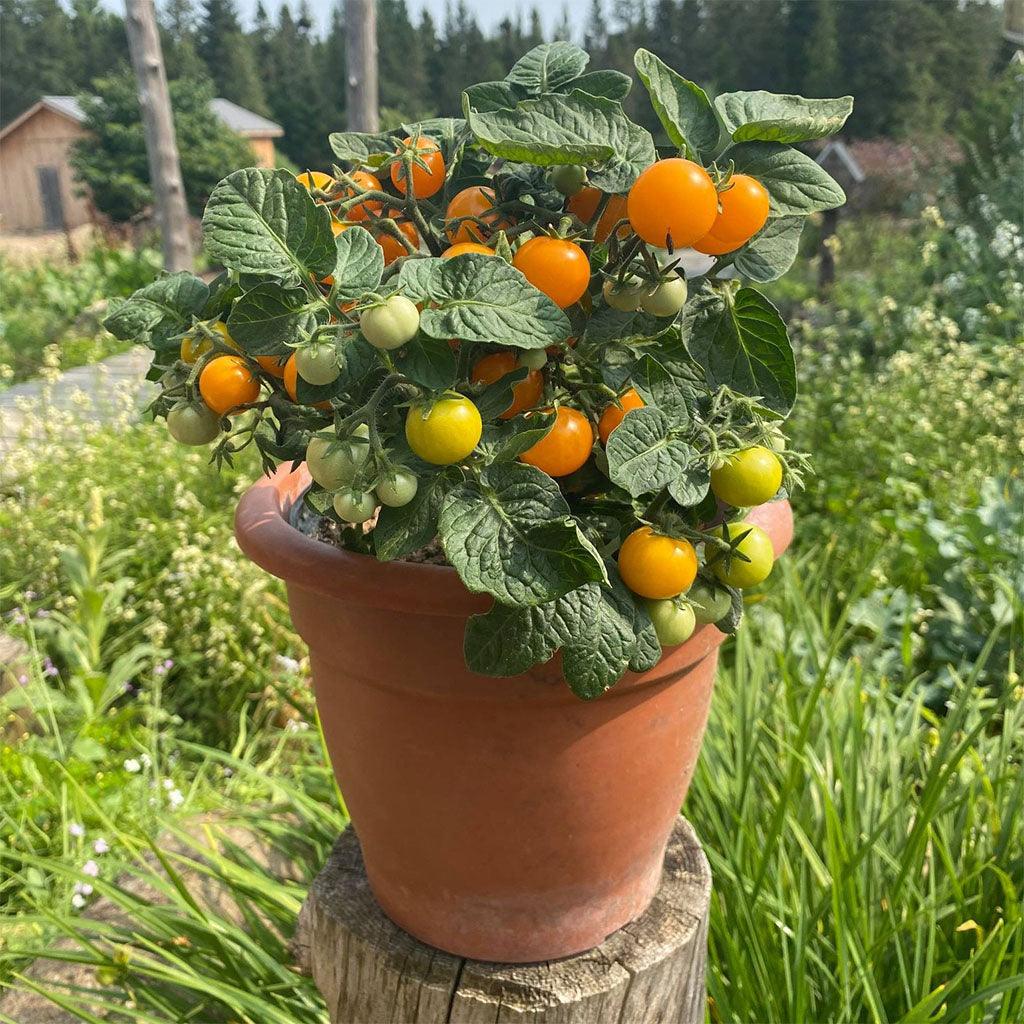
<svg viewBox="0 0 1024 1024">
<path fill-rule="evenodd" d="M 659 248 L 686 249 L 702 239 L 718 215 L 718 193 L 692 160 L 651 164 L 633 183 L 627 203 L 633 230 Z"/>
</svg>

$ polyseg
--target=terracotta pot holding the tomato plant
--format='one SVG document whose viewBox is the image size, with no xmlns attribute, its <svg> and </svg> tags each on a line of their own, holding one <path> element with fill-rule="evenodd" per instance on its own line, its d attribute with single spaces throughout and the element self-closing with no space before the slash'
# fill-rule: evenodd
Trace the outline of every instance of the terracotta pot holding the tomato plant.
<svg viewBox="0 0 1024 1024">
<path fill-rule="evenodd" d="M 511 679 L 475 675 L 463 630 L 489 598 L 454 569 L 381 563 L 300 534 L 289 513 L 308 482 L 304 469 L 260 480 L 236 532 L 288 585 L 381 906 L 424 942 L 475 959 L 598 945 L 657 887 L 722 634 L 698 630 L 589 702 L 562 681 L 557 656 Z M 783 551 L 788 504 L 753 517 Z"/>
</svg>

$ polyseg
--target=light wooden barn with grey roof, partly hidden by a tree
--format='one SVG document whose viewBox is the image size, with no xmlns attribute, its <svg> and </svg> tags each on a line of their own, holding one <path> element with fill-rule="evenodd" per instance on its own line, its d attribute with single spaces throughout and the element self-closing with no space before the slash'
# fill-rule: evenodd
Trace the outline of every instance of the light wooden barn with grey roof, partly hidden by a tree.
<svg viewBox="0 0 1024 1024">
<path fill-rule="evenodd" d="M 214 99 L 210 108 L 248 139 L 257 166 L 273 167 L 281 125 L 229 99 Z M 88 134 L 84 125 L 74 96 L 43 96 L 0 131 L 0 230 L 60 230 L 95 219 L 71 169 L 71 146 Z"/>
</svg>

